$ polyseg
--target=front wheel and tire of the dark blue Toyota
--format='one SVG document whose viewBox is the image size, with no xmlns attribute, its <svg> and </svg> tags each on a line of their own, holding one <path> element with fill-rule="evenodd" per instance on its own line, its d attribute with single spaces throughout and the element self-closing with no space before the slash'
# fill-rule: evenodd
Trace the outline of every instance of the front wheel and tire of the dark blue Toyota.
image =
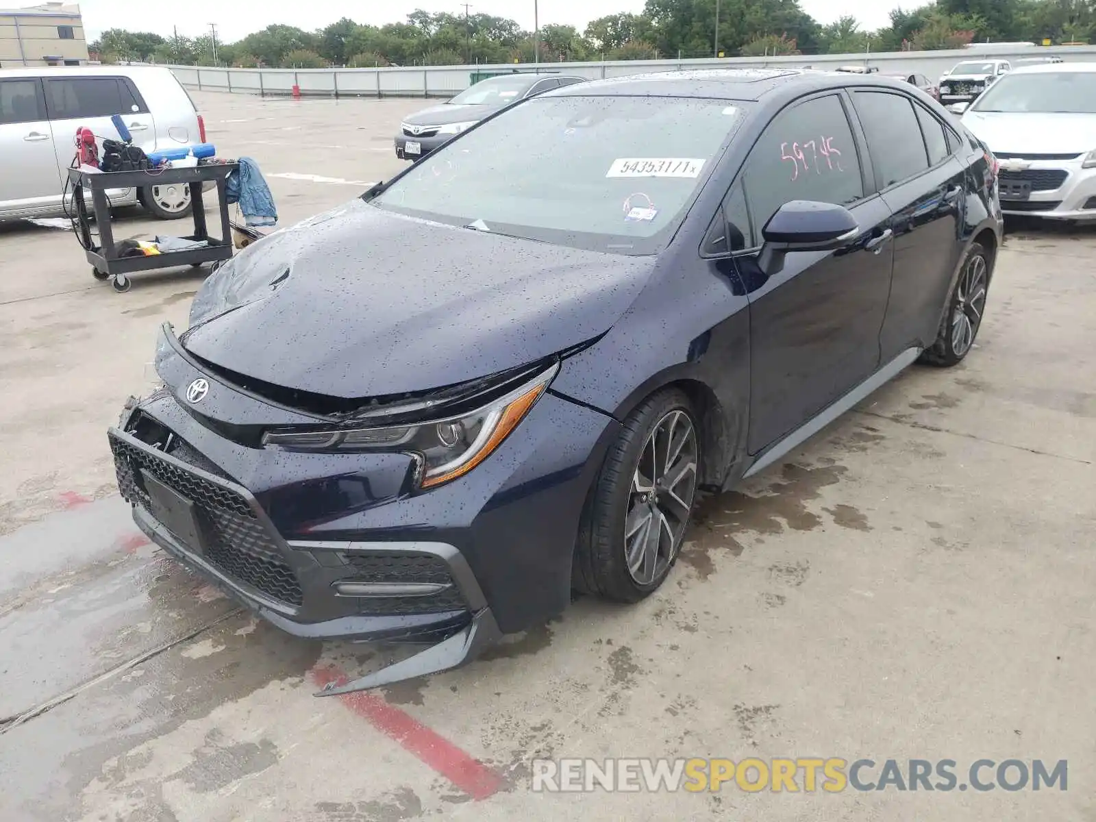
<svg viewBox="0 0 1096 822">
<path fill-rule="evenodd" d="M 583 512 L 574 585 L 623 603 L 657 591 L 677 561 L 700 465 L 688 397 L 652 395 L 628 415 Z"/>
</svg>

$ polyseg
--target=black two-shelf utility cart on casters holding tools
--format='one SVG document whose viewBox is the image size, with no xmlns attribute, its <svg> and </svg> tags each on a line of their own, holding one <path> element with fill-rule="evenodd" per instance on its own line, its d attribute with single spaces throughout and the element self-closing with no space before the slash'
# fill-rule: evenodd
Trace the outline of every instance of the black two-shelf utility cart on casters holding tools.
<svg viewBox="0 0 1096 822">
<path fill-rule="evenodd" d="M 232 256 L 232 238 L 228 219 L 228 198 L 226 196 L 226 179 L 239 168 L 238 163 L 208 163 L 185 169 L 149 169 L 147 171 L 84 171 L 69 169 L 69 182 L 72 187 L 72 204 L 76 210 L 73 226 L 80 244 L 92 265 L 92 276 L 95 279 L 111 279 L 116 292 L 129 290 L 128 275 L 137 271 L 153 269 L 171 269 L 179 265 L 203 265 L 204 263 L 229 260 Z M 202 202 L 203 184 L 217 184 L 217 201 L 220 204 L 219 238 L 210 237 L 206 228 L 205 206 Z M 205 240 L 203 248 L 184 251 L 163 251 L 148 256 L 119 256 L 115 248 L 114 233 L 111 230 L 111 203 L 107 191 L 118 189 L 138 189 L 145 185 L 170 185 L 172 183 L 189 185 L 191 189 L 192 216 L 194 218 L 194 235 L 181 237 L 182 240 Z M 84 192 L 91 192 L 92 213 L 99 228 L 99 244 L 91 231 L 91 214 L 84 201 Z"/>
</svg>

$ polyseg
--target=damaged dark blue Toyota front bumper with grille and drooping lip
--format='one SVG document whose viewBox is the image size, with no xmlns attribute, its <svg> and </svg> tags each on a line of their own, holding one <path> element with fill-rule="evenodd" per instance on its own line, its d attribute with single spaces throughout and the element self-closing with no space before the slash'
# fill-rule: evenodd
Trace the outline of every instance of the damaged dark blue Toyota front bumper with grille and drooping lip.
<svg viewBox="0 0 1096 822">
<path fill-rule="evenodd" d="M 430 643 L 321 693 L 456 667 L 566 608 L 610 418 L 546 395 L 483 464 L 421 491 L 407 455 L 262 445 L 258 432 L 295 413 L 203 368 L 173 334 L 157 370 L 175 388 L 127 403 L 109 432 L 141 530 L 294 636 Z M 199 378 L 208 396 L 195 406 L 186 388 Z"/>
</svg>

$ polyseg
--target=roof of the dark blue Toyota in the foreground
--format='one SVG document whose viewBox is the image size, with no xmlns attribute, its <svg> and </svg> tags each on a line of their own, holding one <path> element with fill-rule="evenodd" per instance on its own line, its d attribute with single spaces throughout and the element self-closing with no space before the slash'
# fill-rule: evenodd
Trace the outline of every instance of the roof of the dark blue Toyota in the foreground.
<svg viewBox="0 0 1096 822">
<path fill-rule="evenodd" d="M 760 101 L 778 91 L 803 92 L 846 85 L 905 88 L 909 83 L 879 73 L 860 75 L 814 69 L 689 69 L 591 80 L 548 92 L 549 96 L 664 96 Z"/>
</svg>

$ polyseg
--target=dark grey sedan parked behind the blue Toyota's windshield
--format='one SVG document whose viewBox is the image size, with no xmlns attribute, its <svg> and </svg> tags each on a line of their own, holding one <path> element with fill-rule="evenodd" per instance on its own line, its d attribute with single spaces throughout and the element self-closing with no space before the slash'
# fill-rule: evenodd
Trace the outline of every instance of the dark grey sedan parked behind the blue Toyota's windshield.
<svg viewBox="0 0 1096 822">
<path fill-rule="evenodd" d="M 443 142 L 471 128 L 481 119 L 518 100 L 536 96 L 561 85 L 580 83 L 585 78 L 560 75 L 521 73 L 491 77 L 472 85 L 452 100 L 415 112 L 400 124 L 396 135 L 396 156 L 418 160 Z"/>
</svg>

